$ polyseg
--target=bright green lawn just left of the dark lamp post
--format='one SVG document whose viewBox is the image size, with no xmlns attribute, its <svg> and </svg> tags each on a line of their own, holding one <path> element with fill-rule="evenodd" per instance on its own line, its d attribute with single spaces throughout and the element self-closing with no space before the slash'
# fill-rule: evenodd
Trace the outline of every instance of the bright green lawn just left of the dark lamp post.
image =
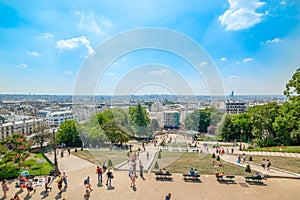
<svg viewBox="0 0 300 200">
<path fill-rule="evenodd" d="M 31 175 L 46 175 L 53 169 L 53 165 L 49 163 L 41 153 L 30 154 L 30 157 L 25 161 L 21 171 L 26 170 Z"/>
</svg>

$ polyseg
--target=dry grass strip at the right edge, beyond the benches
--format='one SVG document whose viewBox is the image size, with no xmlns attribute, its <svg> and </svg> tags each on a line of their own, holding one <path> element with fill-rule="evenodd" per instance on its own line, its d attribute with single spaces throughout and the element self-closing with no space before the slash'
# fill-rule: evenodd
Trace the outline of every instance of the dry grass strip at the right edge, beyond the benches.
<svg viewBox="0 0 300 200">
<path fill-rule="evenodd" d="M 252 162 L 261 164 L 262 159 L 269 159 L 271 168 L 279 168 L 300 174 L 300 158 L 282 156 L 252 156 Z"/>
</svg>

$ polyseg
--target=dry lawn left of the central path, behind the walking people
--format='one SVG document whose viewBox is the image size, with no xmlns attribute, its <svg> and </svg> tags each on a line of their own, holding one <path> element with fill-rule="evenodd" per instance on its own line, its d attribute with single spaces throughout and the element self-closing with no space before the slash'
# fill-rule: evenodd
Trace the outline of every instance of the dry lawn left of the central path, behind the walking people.
<svg viewBox="0 0 300 200">
<path fill-rule="evenodd" d="M 106 162 L 107 165 L 108 160 L 112 161 L 113 167 L 127 160 L 127 151 L 109 151 L 95 149 L 72 152 L 72 154 L 101 166 L 104 162 Z"/>
</svg>

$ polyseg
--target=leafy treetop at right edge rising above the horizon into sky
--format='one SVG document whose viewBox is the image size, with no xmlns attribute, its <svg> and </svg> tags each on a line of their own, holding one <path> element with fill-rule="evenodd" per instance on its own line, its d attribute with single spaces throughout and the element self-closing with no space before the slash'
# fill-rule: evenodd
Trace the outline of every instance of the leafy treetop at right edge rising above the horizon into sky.
<svg viewBox="0 0 300 200">
<path fill-rule="evenodd" d="M 289 99 L 289 100 L 300 100 L 300 68 L 296 70 L 296 72 L 293 74 L 292 79 L 289 80 L 289 82 L 285 85 L 285 90 L 283 94 Z"/>
</svg>

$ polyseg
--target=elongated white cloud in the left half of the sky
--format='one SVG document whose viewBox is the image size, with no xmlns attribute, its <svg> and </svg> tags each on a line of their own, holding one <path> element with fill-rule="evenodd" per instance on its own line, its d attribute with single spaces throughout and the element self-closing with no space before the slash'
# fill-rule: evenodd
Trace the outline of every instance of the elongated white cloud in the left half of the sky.
<svg viewBox="0 0 300 200">
<path fill-rule="evenodd" d="M 75 49 L 77 47 L 79 47 L 79 44 L 83 44 L 87 49 L 89 54 L 94 54 L 95 51 L 93 50 L 93 48 L 90 46 L 90 41 L 88 39 L 86 39 L 84 36 L 81 36 L 79 38 L 71 38 L 68 40 L 59 40 L 56 43 L 56 48 L 57 49 Z"/>
</svg>

